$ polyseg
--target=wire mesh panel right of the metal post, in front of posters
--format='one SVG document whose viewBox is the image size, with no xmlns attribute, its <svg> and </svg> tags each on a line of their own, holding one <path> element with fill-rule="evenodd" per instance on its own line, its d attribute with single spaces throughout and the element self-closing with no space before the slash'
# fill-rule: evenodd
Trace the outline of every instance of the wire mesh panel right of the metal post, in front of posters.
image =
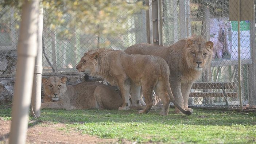
<svg viewBox="0 0 256 144">
<path fill-rule="evenodd" d="M 214 43 L 212 65 L 192 86 L 190 106 L 240 109 L 241 77 L 243 109 L 255 108 L 255 2 L 241 2 L 241 15 L 247 18 L 240 21 L 240 51 L 237 19 L 229 20 L 230 7 L 237 13 L 237 4 L 238 0 L 163 0 L 164 45 L 193 34 L 203 35 L 206 41 Z M 238 66 L 239 52 L 241 67 Z"/>
</svg>

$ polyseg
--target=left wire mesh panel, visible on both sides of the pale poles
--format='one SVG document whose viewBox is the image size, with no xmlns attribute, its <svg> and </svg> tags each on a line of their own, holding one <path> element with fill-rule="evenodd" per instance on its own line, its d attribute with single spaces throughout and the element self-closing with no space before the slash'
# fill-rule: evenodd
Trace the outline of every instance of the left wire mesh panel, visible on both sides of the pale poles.
<svg viewBox="0 0 256 144">
<path fill-rule="evenodd" d="M 0 9 L 0 77 L 15 77 L 19 24 L 13 17 L 14 11 L 9 7 Z M 53 28 L 46 20 L 50 14 L 43 11 L 43 75 L 77 75 L 75 66 L 89 49 L 124 50 L 132 44 L 147 43 L 145 10 L 136 12 L 128 19 L 128 29 L 124 33 L 107 36 L 87 34 L 75 26 L 67 27 L 73 19 L 69 15 L 65 15 L 65 23 Z M 121 13 L 119 16 L 122 17 Z M 113 21 L 113 26 L 116 26 L 115 23 L 119 22 Z M 68 36 L 63 35 L 65 30 L 69 31 Z"/>
</svg>

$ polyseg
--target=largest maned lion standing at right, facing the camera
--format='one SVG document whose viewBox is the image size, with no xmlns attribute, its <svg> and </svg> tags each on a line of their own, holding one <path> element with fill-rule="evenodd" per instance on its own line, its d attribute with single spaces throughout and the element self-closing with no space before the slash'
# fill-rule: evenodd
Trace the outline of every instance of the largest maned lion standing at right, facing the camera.
<svg viewBox="0 0 256 144">
<path fill-rule="evenodd" d="M 203 37 L 193 35 L 190 38 L 179 40 L 171 46 L 153 44 L 134 44 L 124 52 L 127 54 L 155 55 L 163 58 L 170 68 L 170 85 L 172 94 L 179 106 L 188 108 L 191 86 L 206 67 L 213 55 L 213 42 L 206 42 Z M 175 108 L 175 113 L 180 110 Z"/>
</svg>

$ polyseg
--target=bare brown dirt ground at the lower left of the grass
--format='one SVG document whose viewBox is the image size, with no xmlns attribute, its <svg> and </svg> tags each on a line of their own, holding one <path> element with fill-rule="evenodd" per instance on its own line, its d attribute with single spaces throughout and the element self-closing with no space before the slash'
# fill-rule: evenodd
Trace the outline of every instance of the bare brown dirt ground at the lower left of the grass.
<svg viewBox="0 0 256 144">
<path fill-rule="evenodd" d="M 8 144 L 11 121 L 1 120 L 0 118 L 0 144 Z M 63 123 L 43 123 L 28 128 L 27 143 L 32 144 L 115 144 L 125 143 L 131 144 L 127 140 L 119 141 L 118 139 L 99 139 L 95 136 L 81 134 L 75 130 L 66 132 L 59 130 L 65 128 Z"/>
</svg>

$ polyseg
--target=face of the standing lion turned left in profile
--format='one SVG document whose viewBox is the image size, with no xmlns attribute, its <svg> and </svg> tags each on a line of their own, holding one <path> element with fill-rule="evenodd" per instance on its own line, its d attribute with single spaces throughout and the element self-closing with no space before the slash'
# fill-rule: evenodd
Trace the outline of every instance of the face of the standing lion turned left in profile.
<svg viewBox="0 0 256 144">
<path fill-rule="evenodd" d="M 82 73 L 92 73 L 98 64 L 97 62 L 98 52 L 87 52 L 81 58 L 81 61 L 77 64 L 76 69 Z"/>
</svg>

